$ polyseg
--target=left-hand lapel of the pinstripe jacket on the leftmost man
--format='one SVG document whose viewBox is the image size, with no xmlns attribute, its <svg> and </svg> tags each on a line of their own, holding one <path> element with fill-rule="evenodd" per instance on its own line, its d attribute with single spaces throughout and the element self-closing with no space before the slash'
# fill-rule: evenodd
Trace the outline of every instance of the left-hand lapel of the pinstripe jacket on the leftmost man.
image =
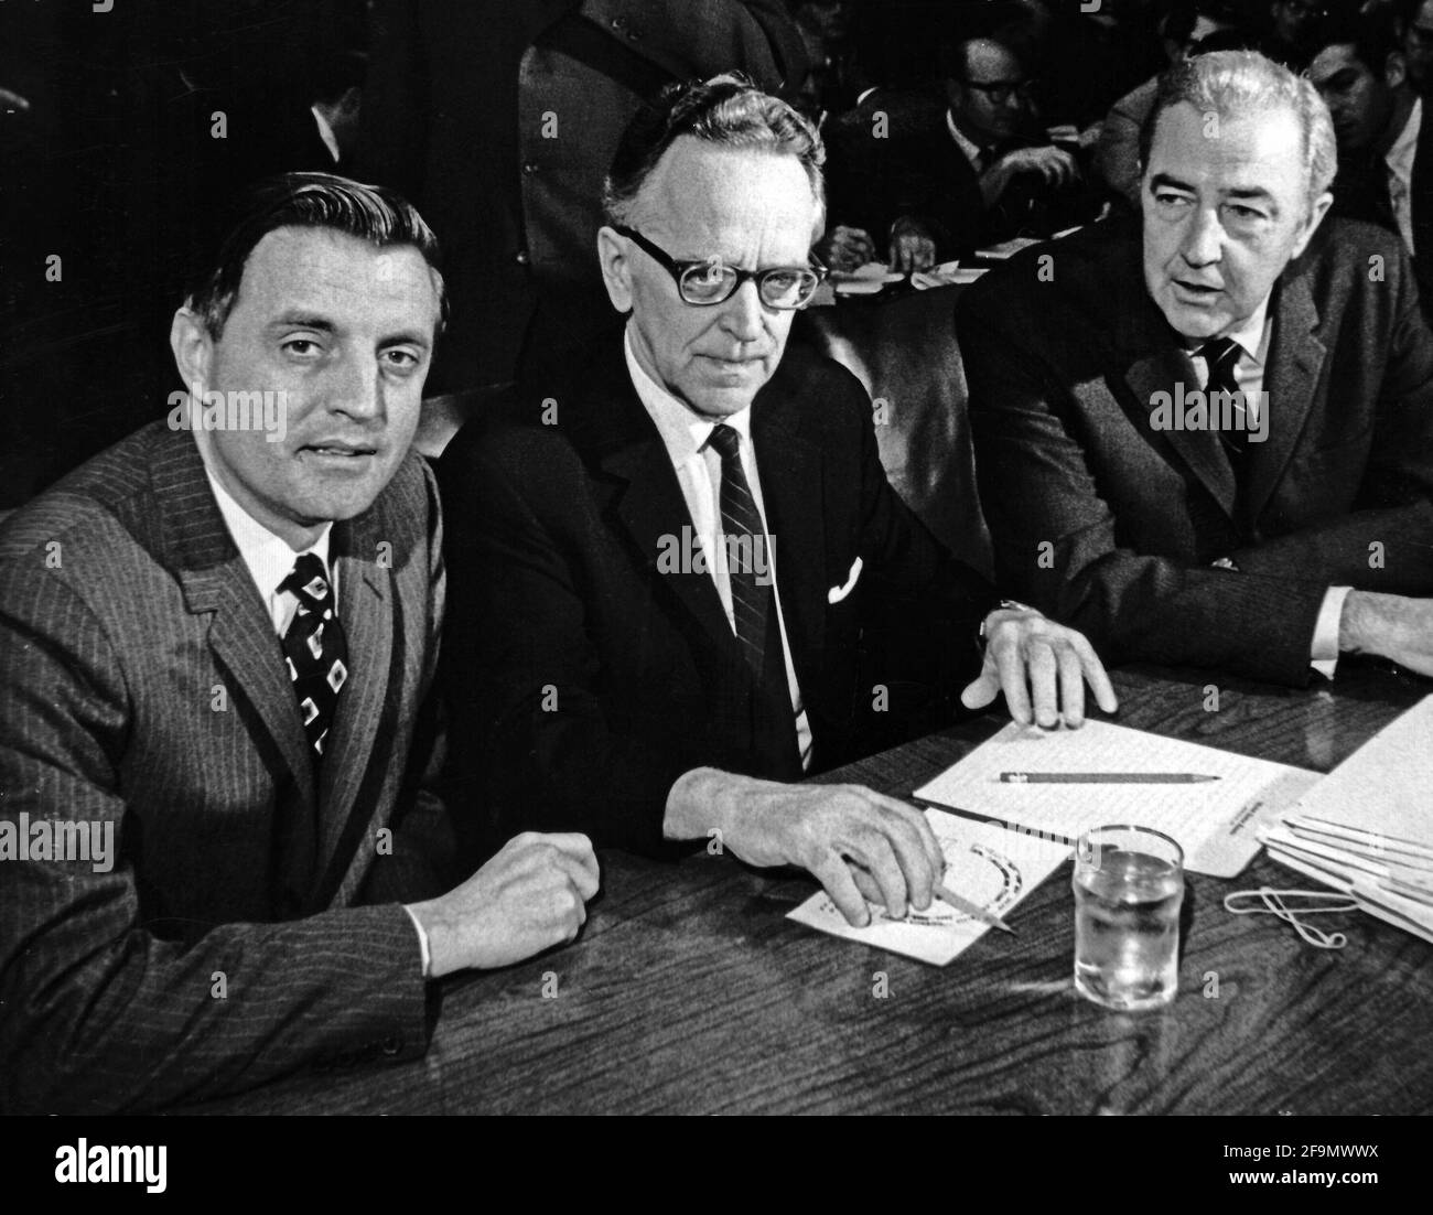
<svg viewBox="0 0 1433 1215">
<path fill-rule="evenodd" d="M 159 433 L 155 448 L 150 476 L 165 503 L 166 559 L 183 589 L 185 608 L 212 615 L 209 648 L 234 676 L 229 693 L 254 706 L 252 729 L 274 744 L 312 810 L 314 765 L 278 635 L 214 500 L 199 448 L 185 431 Z"/>
</svg>

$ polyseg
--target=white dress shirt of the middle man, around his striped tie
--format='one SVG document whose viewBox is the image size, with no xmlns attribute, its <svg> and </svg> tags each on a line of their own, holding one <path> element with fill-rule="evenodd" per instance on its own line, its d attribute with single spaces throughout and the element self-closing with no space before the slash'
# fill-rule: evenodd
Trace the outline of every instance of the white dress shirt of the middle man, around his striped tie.
<svg viewBox="0 0 1433 1215">
<path fill-rule="evenodd" d="M 642 370 L 632 350 L 631 324 L 623 338 L 623 350 L 632 387 L 636 388 L 643 408 L 656 424 L 658 434 L 662 436 L 666 454 L 672 458 L 676 481 L 682 487 L 682 497 L 686 500 L 686 510 L 692 517 L 692 532 L 701 542 L 702 552 L 708 554 L 706 570 L 716 585 L 721 606 L 727 612 L 727 622 L 735 636 L 737 618 L 731 605 L 731 573 L 727 569 L 727 544 L 719 526 L 721 456 L 708 443 L 712 430 L 716 428 L 716 421 L 694 413 Z M 751 496 L 761 514 L 761 529 L 765 533 L 767 506 L 761 497 L 761 477 L 757 473 L 757 454 L 751 443 L 751 405 L 721 421 L 741 436 L 741 469 L 747 474 L 747 484 L 751 487 Z M 777 580 L 780 550 L 771 543 L 770 533 L 765 537 L 765 552 L 767 569 L 772 580 L 772 599 L 777 605 L 777 623 L 781 628 L 781 653 L 787 663 L 787 686 L 791 689 L 797 746 L 801 751 L 801 767 L 805 769 L 811 767 L 811 724 L 807 721 L 805 708 L 801 703 L 801 686 L 797 683 L 795 668 L 791 665 L 791 642 L 787 640 L 787 622 L 781 612 L 781 586 Z"/>
</svg>

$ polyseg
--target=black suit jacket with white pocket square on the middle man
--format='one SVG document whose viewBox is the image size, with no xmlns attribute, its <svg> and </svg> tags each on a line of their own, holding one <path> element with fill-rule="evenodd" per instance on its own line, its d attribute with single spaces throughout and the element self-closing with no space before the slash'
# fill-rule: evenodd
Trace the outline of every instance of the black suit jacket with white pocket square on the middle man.
<svg viewBox="0 0 1433 1215">
<path fill-rule="evenodd" d="M 709 575 L 658 565 L 692 520 L 619 342 L 585 383 L 556 426 L 470 423 L 438 466 L 456 782 L 467 802 L 483 792 L 497 835 L 575 828 L 655 850 L 684 772 L 800 765 L 758 754 L 761 689 Z M 788 348 L 752 404 L 752 443 L 814 767 L 943 721 L 995 595 L 891 490 L 860 384 Z M 791 721 L 790 698 L 778 711 Z"/>
</svg>

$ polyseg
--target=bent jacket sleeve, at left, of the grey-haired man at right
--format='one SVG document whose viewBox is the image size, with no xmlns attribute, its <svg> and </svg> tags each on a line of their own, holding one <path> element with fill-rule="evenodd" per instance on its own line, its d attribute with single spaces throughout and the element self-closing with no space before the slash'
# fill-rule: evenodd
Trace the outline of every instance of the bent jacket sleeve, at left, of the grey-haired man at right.
<svg viewBox="0 0 1433 1215">
<path fill-rule="evenodd" d="M 1187 662 L 1301 685 L 1326 582 L 1122 547 L 1066 390 L 983 292 L 959 308 L 996 582 L 1083 632 L 1106 663 Z"/>
</svg>

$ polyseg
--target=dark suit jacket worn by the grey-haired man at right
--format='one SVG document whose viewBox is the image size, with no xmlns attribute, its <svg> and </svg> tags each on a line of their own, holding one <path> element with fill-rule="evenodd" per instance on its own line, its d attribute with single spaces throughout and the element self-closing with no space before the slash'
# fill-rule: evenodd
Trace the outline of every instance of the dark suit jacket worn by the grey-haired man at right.
<svg viewBox="0 0 1433 1215">
<path fill-rule="evenodd" d="M 1433 337 L 1407 256 L 1326 219 L 1275 292 L 1242 503 L 1217 434 L 1152 426 L 1152 395 L 1198 380 L 1145 289 L 1138 224 L 1030 249 L 960 299 L 996 577 L 1106 662 L 1301 683 L 1330 585 L 1433 592 Z M 1241 572 L 1209 567 L 1224 556 Z"/>
</svg>

